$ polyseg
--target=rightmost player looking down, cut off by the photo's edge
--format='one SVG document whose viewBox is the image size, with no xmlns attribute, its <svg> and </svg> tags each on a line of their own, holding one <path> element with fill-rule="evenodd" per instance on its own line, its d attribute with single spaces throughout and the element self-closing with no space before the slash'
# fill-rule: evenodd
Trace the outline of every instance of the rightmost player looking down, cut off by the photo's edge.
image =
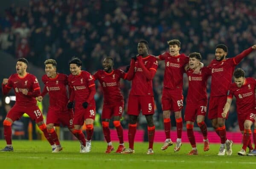
<svg viewBox="0 0 256 169">
<path fill-rule="evenodd" d="M 251 126 L 256 118 L 256 80 L 253 78 L 245 78 L 244 74 L 244 70 L 241 68 L 235 70 L 235 82 L 229 87 L 227 92 L 227 102 L 224 106 L 224 111 L 221 114 L 223 118 L 226 118 L 227 113 L 230 110 L 233 96 L 235 96 L 238 124 L 240 131 L 243 133 L 243 146 L 238 152 L 238 155 L 246 155 L 246 148 L 250 142 L 252 134 Z M 254 144 L 256 144 L 256 140 L 254 140 Z"/>
</svg>

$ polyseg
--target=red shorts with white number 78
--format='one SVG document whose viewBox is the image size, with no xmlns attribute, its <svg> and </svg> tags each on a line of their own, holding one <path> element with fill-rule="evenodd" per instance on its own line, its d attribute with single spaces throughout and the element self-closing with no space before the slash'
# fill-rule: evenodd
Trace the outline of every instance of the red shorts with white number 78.
<svg viewBox="0 0 256 169">
<path fill-rule="evenodd" d="M 195 122 L 197 115 L 206 115 L 207 100 L 201 100 L 198 103 L 187 102 L 185 109 L 185 121 Z"/>
</svg>

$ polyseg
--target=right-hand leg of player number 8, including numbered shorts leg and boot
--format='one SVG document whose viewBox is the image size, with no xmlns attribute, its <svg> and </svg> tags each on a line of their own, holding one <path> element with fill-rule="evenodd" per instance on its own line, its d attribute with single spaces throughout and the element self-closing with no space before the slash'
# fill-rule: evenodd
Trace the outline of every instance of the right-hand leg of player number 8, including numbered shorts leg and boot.
<svg viewBox="0 0 256 169">
<path fill-rule="evenodd" d="M 113 124 L 116 127 L 116 132 L 119 139 L 119 146 L 116 149 L 116 153 L 121 153 L 125 149 L 123 128 L 120 123 L 120 119 L 122 118 L 123 107 L 123 103 L 119 106 L 114 107 Z"/>
</svg>

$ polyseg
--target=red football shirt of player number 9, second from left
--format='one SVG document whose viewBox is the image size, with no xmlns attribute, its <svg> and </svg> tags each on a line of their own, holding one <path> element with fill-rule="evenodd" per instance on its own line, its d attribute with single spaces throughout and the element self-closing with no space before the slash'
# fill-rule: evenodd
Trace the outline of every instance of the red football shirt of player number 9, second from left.
<svg viewBox="0 0 256 169">
<path fill-rule="evenodd" d="M 49 107 L 59 111 L 67 111 L 67 75 L 58 73 L 57 76 L 52 79 L 47 75 L 42 76 L 44 82 L 44 90 L 41 96 L 49 94 Z"/>
</svg>

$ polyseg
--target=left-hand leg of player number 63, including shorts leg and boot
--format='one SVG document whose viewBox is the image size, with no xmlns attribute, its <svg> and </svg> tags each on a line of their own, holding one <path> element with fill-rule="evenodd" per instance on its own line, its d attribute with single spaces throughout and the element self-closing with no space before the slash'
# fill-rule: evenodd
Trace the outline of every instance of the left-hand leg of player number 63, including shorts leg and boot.
<svg viewBox="0 0 256 169">
<path fill-rule="evenodd" d="M 168 94 L 168 89 L 163 88 L 163 95 L 162 95 L 162 109 L 163 109 L 163 128 L 166 135 L 166 140 L 161 147 L 162 150 L 165 150 L 168 148 L 168 146 L 172 146 L 172 140 L 171 140 L 171 98 Z"/>
</svg>

